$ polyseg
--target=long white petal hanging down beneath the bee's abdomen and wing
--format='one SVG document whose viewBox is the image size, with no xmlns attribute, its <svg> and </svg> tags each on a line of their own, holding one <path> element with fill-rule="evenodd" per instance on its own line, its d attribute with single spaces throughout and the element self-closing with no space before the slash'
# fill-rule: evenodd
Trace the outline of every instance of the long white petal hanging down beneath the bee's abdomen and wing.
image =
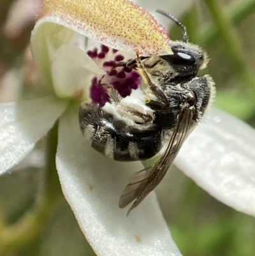
<svg viewBox="0 0 255 256">
<path fill-rule="evenodd" d="M 98 255 L 180 255 L 151 193 L 128 217 L 120 194 L 140 163 L 115 162 L 91 148 L 78 127 L 78 109 L 59 123 L 57 169 L 62 190 Z"/>
</svg>

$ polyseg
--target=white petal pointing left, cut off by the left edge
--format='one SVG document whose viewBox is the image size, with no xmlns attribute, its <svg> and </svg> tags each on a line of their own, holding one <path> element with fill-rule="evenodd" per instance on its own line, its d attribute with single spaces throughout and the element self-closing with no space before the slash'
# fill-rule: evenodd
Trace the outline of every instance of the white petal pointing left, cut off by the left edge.
<svg viewBox="0 0 255 256">
<path fill-rule="evenodd" d="M 52 97 L 0 104 L 0 174 L 21 160 L 45 135 L 66 104 Z"/>
</svg>

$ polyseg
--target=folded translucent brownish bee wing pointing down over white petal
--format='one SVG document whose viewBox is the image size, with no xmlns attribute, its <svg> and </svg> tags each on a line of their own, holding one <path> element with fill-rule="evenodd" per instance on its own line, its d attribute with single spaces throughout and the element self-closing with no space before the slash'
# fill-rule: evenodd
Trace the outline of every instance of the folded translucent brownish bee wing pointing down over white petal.
<svg viewBox="0 0 255 256">
<path fill-rule="evenodd" d="M 128 214 L 131 209 L 138 206 L 156 188 L 173 164 L 175 156 L 177 156 L 180 147 L 194 126 L 194 111 L 194 105 L 190 105 L 188 102 L 184 103 L 180 110 L 177 125 L 171 134 L 170 141 L 166 146 L 163 156 L 152 167 L 136 172 L 129 179 L 129 184 L 122 192 L 119 200 L 119 207 L 123 208 L 136 199 L 129 209 Z"/>
</svg>

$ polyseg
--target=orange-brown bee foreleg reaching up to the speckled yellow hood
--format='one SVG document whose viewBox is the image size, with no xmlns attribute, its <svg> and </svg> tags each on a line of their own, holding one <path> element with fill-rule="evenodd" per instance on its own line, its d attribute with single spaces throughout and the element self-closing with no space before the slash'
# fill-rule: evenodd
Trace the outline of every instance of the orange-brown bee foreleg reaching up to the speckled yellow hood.
<svg viewBox="0 0 255 256">
<path fill-rule="evenodd" d="M 168 99 L 166 98 L 166 95 L 164 94 L 163 89 L 157 86 L 150 78 L 149 73 L 145 70 L 145 67 L 142 64 L 138 51 L 136 51 L 136 56 L 137 69 L 140 75 L 142 76 L 145 84 L 147 84 L 150 87 L 152 93 L 159 99 L 160 102 L 163 103 L 163 105 L 166 108 L 169 107 L 169 102 Z"/>
</svg>

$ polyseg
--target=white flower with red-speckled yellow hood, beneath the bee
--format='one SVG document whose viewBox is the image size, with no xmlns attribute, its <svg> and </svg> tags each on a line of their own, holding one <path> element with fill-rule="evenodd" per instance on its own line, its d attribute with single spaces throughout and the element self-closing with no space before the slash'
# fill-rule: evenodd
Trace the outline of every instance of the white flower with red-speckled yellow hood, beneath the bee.
<svg viewBox="0 0 255 256">
<path fill-rule="evenodd" d="M 157 26 L 153 35 L 147 34 L 152 36 L 148 41 L 139 36 L 126 40 L 119 35 L 116 24 L 110 25 L 110 21 L 121 15 L 126 19 L 125 8 L 132 10 L 130 24 L 136 18 L 151 22 L 147 13 L 128 6 L 124 0 L 45 1 L 31 46 L 51 93 L 26 102 L 1 103 L 0 174 L 31 151 L 58 119 L 56 164 L 62 191 L 95 252 L 98 255 L 180 255 L 154 193 L 128 218 L 126 211 L 118 207 L 129 177 L 142 169 L 142 165 L 114 162 L 97 153 L 82 137 L 78 126 L 78 104 L 81 99 L 89 100 L 92 77 L 101 77 L 105 71 L 86 54 L 87 48 L 84 49 L 77 32 L 129 52 L 133 52 L 134 45 L 143 47 L 146 43 L 145 54 L 169 50 L 168 39 Z M 104 15 L 102 27 L 100 13 Z M 88 20 L 92 22 L 88 24 Z M 129 32 L 134 34 L 132 30 Z M 207 122 L 187 139 L 176 163 L 217 199 L 254 215 L 254 134 L 246 124 L 212 110 Z"/>
</svg>

